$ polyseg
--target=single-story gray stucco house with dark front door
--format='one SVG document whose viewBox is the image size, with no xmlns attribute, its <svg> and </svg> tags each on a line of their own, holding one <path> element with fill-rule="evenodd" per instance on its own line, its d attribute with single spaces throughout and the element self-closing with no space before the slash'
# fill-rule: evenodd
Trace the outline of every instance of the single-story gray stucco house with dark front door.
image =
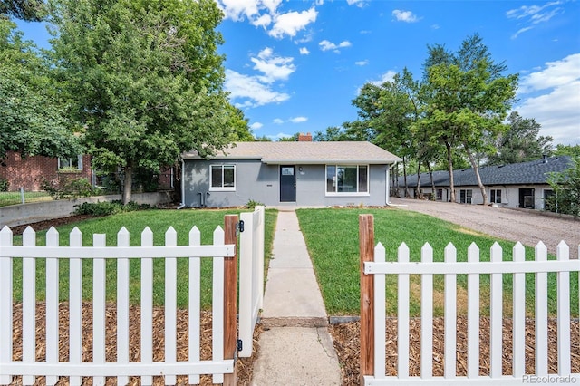
<svg viewBox="0 0 580 386">
<path fill-rule="evenodd" d="M 384 206 L 400 159 L 370 142 L 236 142 L 182 155 L 182 205 Z M 306 137 L 311 139 L 311 136 Z"/>
</svg>

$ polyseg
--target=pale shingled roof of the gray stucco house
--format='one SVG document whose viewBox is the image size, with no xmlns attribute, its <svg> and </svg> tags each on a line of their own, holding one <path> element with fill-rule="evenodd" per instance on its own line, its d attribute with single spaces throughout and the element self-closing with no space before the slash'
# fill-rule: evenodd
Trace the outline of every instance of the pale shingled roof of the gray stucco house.
<svg viewBox="0 0 580 386">
<path fill-rule="evenodd" d="M 201 159 L 197 151 L 183 159 Z M 272 164 L 390 164 L 401 159 L 371 142 L 236 142 L 209 159 L 259 159 Z"/>
</svg>

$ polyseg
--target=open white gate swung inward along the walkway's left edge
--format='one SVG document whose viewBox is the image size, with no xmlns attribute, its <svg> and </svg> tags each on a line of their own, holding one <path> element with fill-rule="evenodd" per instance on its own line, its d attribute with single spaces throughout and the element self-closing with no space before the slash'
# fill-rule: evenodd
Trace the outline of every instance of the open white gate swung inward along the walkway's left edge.
<svg viewBox="0 0 580 386">
<path fill-rule="evenodd" d="M 239 330 L 242 358 L 252 356 L 254 329 L 264 300 L 264 207 L 242 213 L 239 237 Z"/>
</svg>

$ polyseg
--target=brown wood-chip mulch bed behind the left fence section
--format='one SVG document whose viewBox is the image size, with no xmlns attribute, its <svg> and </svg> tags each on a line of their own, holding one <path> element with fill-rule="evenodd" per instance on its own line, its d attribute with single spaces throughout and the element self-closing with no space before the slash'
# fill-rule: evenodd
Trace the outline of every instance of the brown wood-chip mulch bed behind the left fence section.
<svg viewBox="0 0 580 386">
<path fill-rule="evenodd" d="M 117 310 L 115 304 L 107 304 L 106 310 L 106 361 L 115 362 L 117 357 Z M 59 306 L 59 360 L 67 362 L 69 356 L 69 306 L 62 303 Z M 22 304 L 14 305 L 14 338 L 13 338 L 13 360 L 22 360 Z M 201 316 L 201 360 L 211 359 L 211 313 L 202 312 Z M 164 358 L 164 314 L 163 308 L 156 307 L 153 309 L 153 361 L 161 362 Z M 44 303 L 38 303 L 36 306 L 36 361 L 44 362 L 46 359 L 46 343 L 45 343 L 45 325 L 46 325 L 46 307 Z M 178 361 L 188 360 L 188 311 L 178 310 L 177 314 L 177 359 Z M 138 306 L 131 306 L 130 308 L 130 362 L 140 362 L 140 308 Z M 236 362 L 237 368 L 237 384 L 249 385 L 252 379 L 253 363 L 257 358 L 257 341 L 262 328 L 258 325 L 254 332 L 254 352 L 250 358 L 238 358 Z M 82 304 L 82 362 L 92 362 L 92 304 L 85 302 Z M 178 376 L 178 384 L 189 384 L 187 376 Z M 14 385 L 22 385 L 22 377 L 14 377 Z M 46 384 L 44 377 L 37 377 L 35 385 Z M 68 385 L 67 377 L 61 377 L 57 383 L 58 385 Z M 83 385 L 92 385 L 91 378 L 85 378 L 82 381 Z M 115 377 L 108 377 L 107 385 L 116 385 Z M 139 377 L 131 377 L 131 385 L 139 385 Z M 153 377 L 154 385 L 163 385 L 162 377 Z M 201 376 L 202 385 L 213 384 L 211 376 Z"/>
</svg>

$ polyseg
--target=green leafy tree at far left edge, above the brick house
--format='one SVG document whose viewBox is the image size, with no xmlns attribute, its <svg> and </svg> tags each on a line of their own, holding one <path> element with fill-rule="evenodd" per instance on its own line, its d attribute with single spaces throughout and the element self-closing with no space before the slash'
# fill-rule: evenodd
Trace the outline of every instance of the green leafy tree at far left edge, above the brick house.
<svg viewBox="0 0 580 386">
<path fill-rule="evenodd" d="M 16 25 L 0 18 L 0 159 L 70 156 L 81 151 L 65 117 L 66 100 L 51 69 Z"/>
</svg>

